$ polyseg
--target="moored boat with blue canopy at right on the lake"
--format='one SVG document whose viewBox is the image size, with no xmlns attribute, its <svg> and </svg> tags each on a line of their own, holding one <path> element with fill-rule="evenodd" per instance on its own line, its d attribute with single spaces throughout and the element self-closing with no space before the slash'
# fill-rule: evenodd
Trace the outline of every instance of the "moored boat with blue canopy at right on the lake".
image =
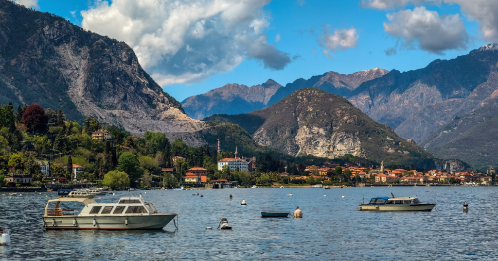
<svg viewBox="0 0 498 261">
<path fill-rule="evenodd" d="M 360 210 L 369 211 L 432 211 L 436 203 L 422 203 L 417 197 L 374 197 Z"/>
</svg>

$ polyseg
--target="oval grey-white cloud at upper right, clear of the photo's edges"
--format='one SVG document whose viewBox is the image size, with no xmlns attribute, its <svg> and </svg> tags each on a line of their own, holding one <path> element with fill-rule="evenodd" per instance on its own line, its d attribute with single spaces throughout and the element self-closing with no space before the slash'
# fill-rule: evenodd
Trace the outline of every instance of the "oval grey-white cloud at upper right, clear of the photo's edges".
<svg viewBox="0 0 498 261">
<path fill-rule="evenodd" d="M 469 43 L 469 35 L 458 14 L 439 16 L 436 11 L 421 6 L 388 13 L 387 18 L 390 23 L 384 22 L 384 31 L 400 39 L 404 47 L 414 48 L 417 42 L 424 51 L 443 54 L 445 50 L 466 49 Z"/>
</svg>

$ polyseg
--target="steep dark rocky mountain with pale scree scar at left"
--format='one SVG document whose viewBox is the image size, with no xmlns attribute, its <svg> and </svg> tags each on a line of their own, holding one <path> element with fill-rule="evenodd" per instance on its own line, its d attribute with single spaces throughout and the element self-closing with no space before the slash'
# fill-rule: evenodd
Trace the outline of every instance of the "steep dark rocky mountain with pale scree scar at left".
<svg viewBox="0 0 498 261">
<path fill-rule="evenodd" d="M 188 117 L 124 42 L 10 0 L 0 0 L 0 38 L 1 103 L 34 102 L 74 121 L 94 116 L 133 134 L 161 131 L 205 144 L 195 133 L 209 124 Z"/>
</svg>

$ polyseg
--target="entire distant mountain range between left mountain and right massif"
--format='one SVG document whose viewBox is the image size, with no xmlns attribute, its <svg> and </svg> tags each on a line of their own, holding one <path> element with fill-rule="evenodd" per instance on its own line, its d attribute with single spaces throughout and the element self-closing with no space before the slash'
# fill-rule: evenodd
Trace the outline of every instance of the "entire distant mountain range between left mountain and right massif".
<svg viewBox="0 0 498 261">
<path fill-rule="evenodd" d="M 268 80 L 266 83 L 247 87 L 228 84 L 183 100 L 182 107 L 194 119 L 204 119 L 213 114 L 240 114 L 266 108 L 300 88 L 314 87 L 347 96 L 362 83 L 387 74 L 388 71 L 374 68 L 354 74 L 328 72 L 308 80 L 298 79 L 285 87 Z"/>
</svg>

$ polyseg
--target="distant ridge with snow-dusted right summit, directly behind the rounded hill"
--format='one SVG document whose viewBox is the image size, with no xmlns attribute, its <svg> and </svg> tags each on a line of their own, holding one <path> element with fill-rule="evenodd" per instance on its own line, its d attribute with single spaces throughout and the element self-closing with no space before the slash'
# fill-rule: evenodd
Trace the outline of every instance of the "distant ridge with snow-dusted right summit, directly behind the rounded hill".
<svg viewBox="0 0 498 261">
<path fill-rule="evenodd" d="M 308 80 L 300 78 L 283 88 L 279 88 L 269 100 L 268 105 L 278 102 L 298 89 L 309 87 L 318 88 L 344 97 L 351 96 L 352 91 L 362 83 L 379 78 L 387 73 L 387 70 L 377 67 L 349 75 L 328 72 L 323 75 L 313 76 Z"/>
</svg>

